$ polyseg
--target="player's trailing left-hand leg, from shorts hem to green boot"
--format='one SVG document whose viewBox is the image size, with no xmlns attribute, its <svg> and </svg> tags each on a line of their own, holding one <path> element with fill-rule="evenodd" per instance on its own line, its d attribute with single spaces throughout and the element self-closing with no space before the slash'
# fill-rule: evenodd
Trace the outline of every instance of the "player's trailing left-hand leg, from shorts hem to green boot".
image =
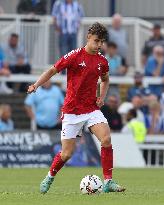
<svg viewBox="0 0 164 205">
<path fill-rule="evenodd" d="M 58 152 L 53 159 L 50 167 L 50 171 L 45 179 L 40 184 L 40 192 L 42 194 L 47 193 L 51 184 L 54 181 L 54 176 L 57 172 L 64 166 L 64 164 L 69 160 L 75 149 L 76 139 L 63 139 L 62 140 L 62 150 Z"/>
</svg>

